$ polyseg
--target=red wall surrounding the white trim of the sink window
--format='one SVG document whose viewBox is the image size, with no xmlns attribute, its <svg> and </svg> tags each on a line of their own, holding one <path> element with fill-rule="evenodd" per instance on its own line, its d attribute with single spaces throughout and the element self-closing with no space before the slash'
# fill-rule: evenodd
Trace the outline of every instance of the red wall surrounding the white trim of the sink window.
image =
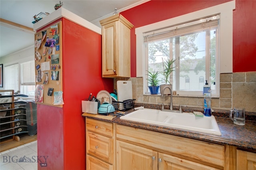
<svg viewBox="0 0 256 170">
<path fill-rule="evenodd" d="M 131 30 L 131 76 L 136 77 L 135 28 L 188 14 L 230 0 L 151 0 L 121 12 L 134 27 Z M 256 71 L 256 1 L 236 0 L 233 12 L 233 72 Z M 250 28 L 250 31 L 247 31 Z"/>
</svg>

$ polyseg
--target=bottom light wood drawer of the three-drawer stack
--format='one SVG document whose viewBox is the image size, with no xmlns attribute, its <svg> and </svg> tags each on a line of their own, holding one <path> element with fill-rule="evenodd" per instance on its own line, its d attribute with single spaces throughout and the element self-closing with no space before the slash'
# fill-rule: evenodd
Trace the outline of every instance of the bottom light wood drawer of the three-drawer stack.
<svg viewBox="0 0 256 170">
<path fill-rule="evenodd" d="M 86 169 L 87 170 L 113 170 L 113 165 L 103 162 L 93 156 L 86 155 Z"/>
</svg>

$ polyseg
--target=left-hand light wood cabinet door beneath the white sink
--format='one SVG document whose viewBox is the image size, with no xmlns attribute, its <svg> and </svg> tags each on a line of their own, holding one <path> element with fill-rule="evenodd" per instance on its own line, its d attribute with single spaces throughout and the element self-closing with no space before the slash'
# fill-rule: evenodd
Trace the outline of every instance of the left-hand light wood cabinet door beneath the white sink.
<svg viewBox="0 0 256 170">
<path fill-rule="evenodd" d="M 157 170 L 157 164 L 156 151 L 116 141 L 117 170 Z"/>
</svg>

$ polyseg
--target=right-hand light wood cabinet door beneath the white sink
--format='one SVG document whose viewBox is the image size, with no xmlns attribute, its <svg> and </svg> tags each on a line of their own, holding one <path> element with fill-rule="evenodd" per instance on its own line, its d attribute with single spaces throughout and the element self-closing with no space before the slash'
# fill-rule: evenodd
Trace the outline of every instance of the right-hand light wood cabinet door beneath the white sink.
<svg viewBox="0 0 256 170">
<path fill-rule="evenodd" d="M 158 170 L 217 170 L 217 169 L 159 152 L 158 153 Z"/>
</svg>

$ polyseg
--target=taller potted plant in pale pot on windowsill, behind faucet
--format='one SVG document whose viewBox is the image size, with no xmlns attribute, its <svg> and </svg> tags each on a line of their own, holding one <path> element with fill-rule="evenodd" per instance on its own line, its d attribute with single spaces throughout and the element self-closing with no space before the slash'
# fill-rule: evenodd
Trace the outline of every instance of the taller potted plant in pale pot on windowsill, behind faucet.
<svg viewBox="0 0 256 170">
<path fill-rule="evenodd" d="M 162 62 L 163 62 L 163 68 L 164 71 L 162 72 L 162 75 L 164 76 L 164 85 L 160 85 L 160 93 L 162 93 L 162 90 L 164 89 L 165 86 L 169 86 L 172 89 L 172 85 L 170 83 L 170 74 L 172 73 L 172 71 L 174 71 L 173 67 L 173 63 L 176 59 L 163 59 L 162 58 Z M 170 91 L 166 90 L 163 93 L 164 95 L 168 95 L 170 94 Z"/>
</svg>

